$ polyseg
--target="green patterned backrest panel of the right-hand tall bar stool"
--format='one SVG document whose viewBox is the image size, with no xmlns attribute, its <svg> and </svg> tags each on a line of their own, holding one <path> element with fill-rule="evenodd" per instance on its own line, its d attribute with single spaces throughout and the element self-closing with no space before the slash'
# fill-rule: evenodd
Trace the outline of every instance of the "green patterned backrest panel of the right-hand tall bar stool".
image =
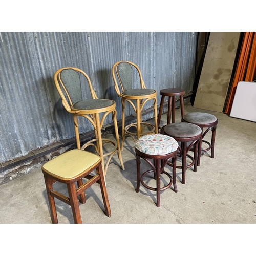
<svg viewBox="0 0 256 256">
<path fill-rule="evenodd" d="M 123 91 L 133 88 L 132 66 L 127 62 L 121 62 L 117 65 L 117 74 L 123 87 Z"/>
</svg>

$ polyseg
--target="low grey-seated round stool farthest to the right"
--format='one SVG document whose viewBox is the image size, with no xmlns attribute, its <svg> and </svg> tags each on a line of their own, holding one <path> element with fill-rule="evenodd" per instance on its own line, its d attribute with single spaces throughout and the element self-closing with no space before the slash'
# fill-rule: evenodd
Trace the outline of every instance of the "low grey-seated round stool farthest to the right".
<svg viewBox="0 0 256 256">
<path fill-rule="evenodd" d="M 201 153 L 203 152 L 211 150 L 210 157 L 214 158 L 215 136 L 216 136 L 216 129 L 218 124 L 217 117 L 208 113 L 191 112 L 184 115 L 181 121 L 196 124 L 202 130 L 202 136 L 198 145 L 197 166 L 200 166 Z M 206 130 L 203 132 L 204 128 L 206 128 Z M 211 130 L 211 142 L 203 140 L 204 136 L 210 130 Z M 208 144 L 208 147 L 206 149 L 202 149 L 202 142 Z"/>
</svg>

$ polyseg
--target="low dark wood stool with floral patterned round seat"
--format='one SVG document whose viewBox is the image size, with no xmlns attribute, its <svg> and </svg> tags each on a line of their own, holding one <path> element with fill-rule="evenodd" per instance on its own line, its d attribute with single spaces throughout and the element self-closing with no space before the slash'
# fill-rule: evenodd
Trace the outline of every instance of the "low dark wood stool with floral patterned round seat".
<svg viewBox="0 0 256 256">
<path fill-rule="evenodd" d="M 137 165 L 137 188 L 136 192 L 140 190 L 140 183 L 147 189 L 157 191 L 157 206 L 160 206 L 160 191 L 169 188 L 172 184 L 174 185 L 174 191 L 177 192 L 176 186 L 176 160 L 178 152 L 178 142 L 163 134 L 150 134 L 140 137 L 135 142 L 135 153 L 136 153 L 136 165 Z M 144 159 L 150 166 L 151 169 L 140 175 L 140 158 Z M 150 161 L 153 159 L 153 163 Z M 173 177 L 164 171 L 164 167 L 171 160 L 173 167 Z M 143 177 L 154 172 L 154 179 L 156 180 L 156 188 L 147 186 Z M 165 174 L 169 177 L 170 182 L 168 185 L 161 187 L 161 174 Z"/>
</svg>

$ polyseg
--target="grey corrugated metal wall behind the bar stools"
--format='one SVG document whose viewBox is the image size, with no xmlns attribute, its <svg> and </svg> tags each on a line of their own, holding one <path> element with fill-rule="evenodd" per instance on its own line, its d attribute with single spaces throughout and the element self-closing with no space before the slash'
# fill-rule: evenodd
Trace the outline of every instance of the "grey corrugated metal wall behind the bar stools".
<svg viewBox="0 0 256 256">
<path fill-rule="evenodd" d="M 121 119 L 111 75 L 115 62 L 136 63 L 147 88 L 188 93 L 196 46 L 197 32 L 0 32 L 0 162 L 75 136 L 53 81 L 57 69 L 84 70 L 99 98 L 116 101 Z M 106 124 L 111 122 L 109 116 Z M 92 130 L 85 120 L 80 124 L 81 132 Z"/>
</svg>

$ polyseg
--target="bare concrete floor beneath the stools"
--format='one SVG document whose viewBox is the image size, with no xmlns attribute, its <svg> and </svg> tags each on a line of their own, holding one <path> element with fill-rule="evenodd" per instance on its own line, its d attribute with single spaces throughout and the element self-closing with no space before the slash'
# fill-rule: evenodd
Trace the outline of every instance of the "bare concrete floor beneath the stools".
<svg viewBox="0 0 256 256">
<path fill-rule="evenodd" d="M 83 223 L 256 223 L 256 123 L 186 104 L 185 113 L 189 112 L 207 112 L 219 119 L 215 158 L 206 153 L 197 173 L 187 169 L 186 184 L 180 182 L 178 169 L 178 193 L 173 187 L 163 191 L 157 207 L 154 191 L 142 186 L 139 193 L 135 191 L 134 142 L 127 137 L 122 152 L 125 170 L 114 156 L 106 174 L 111 218 L 105 216 L 99 185 L 94 184 L 87 190 L 87 203 L 80 205 Z M 180 118 L 180 109 L 176 109 L 176 121 Z M 166 114 L 161 125 L 165 122 Z M 40 168 L 0 185 L 0 195 L 0 223 L 51 223 Z M 74 223 L 70 206 L 58 199 L 55 202 L 59 223 Z"/>
</svg>

